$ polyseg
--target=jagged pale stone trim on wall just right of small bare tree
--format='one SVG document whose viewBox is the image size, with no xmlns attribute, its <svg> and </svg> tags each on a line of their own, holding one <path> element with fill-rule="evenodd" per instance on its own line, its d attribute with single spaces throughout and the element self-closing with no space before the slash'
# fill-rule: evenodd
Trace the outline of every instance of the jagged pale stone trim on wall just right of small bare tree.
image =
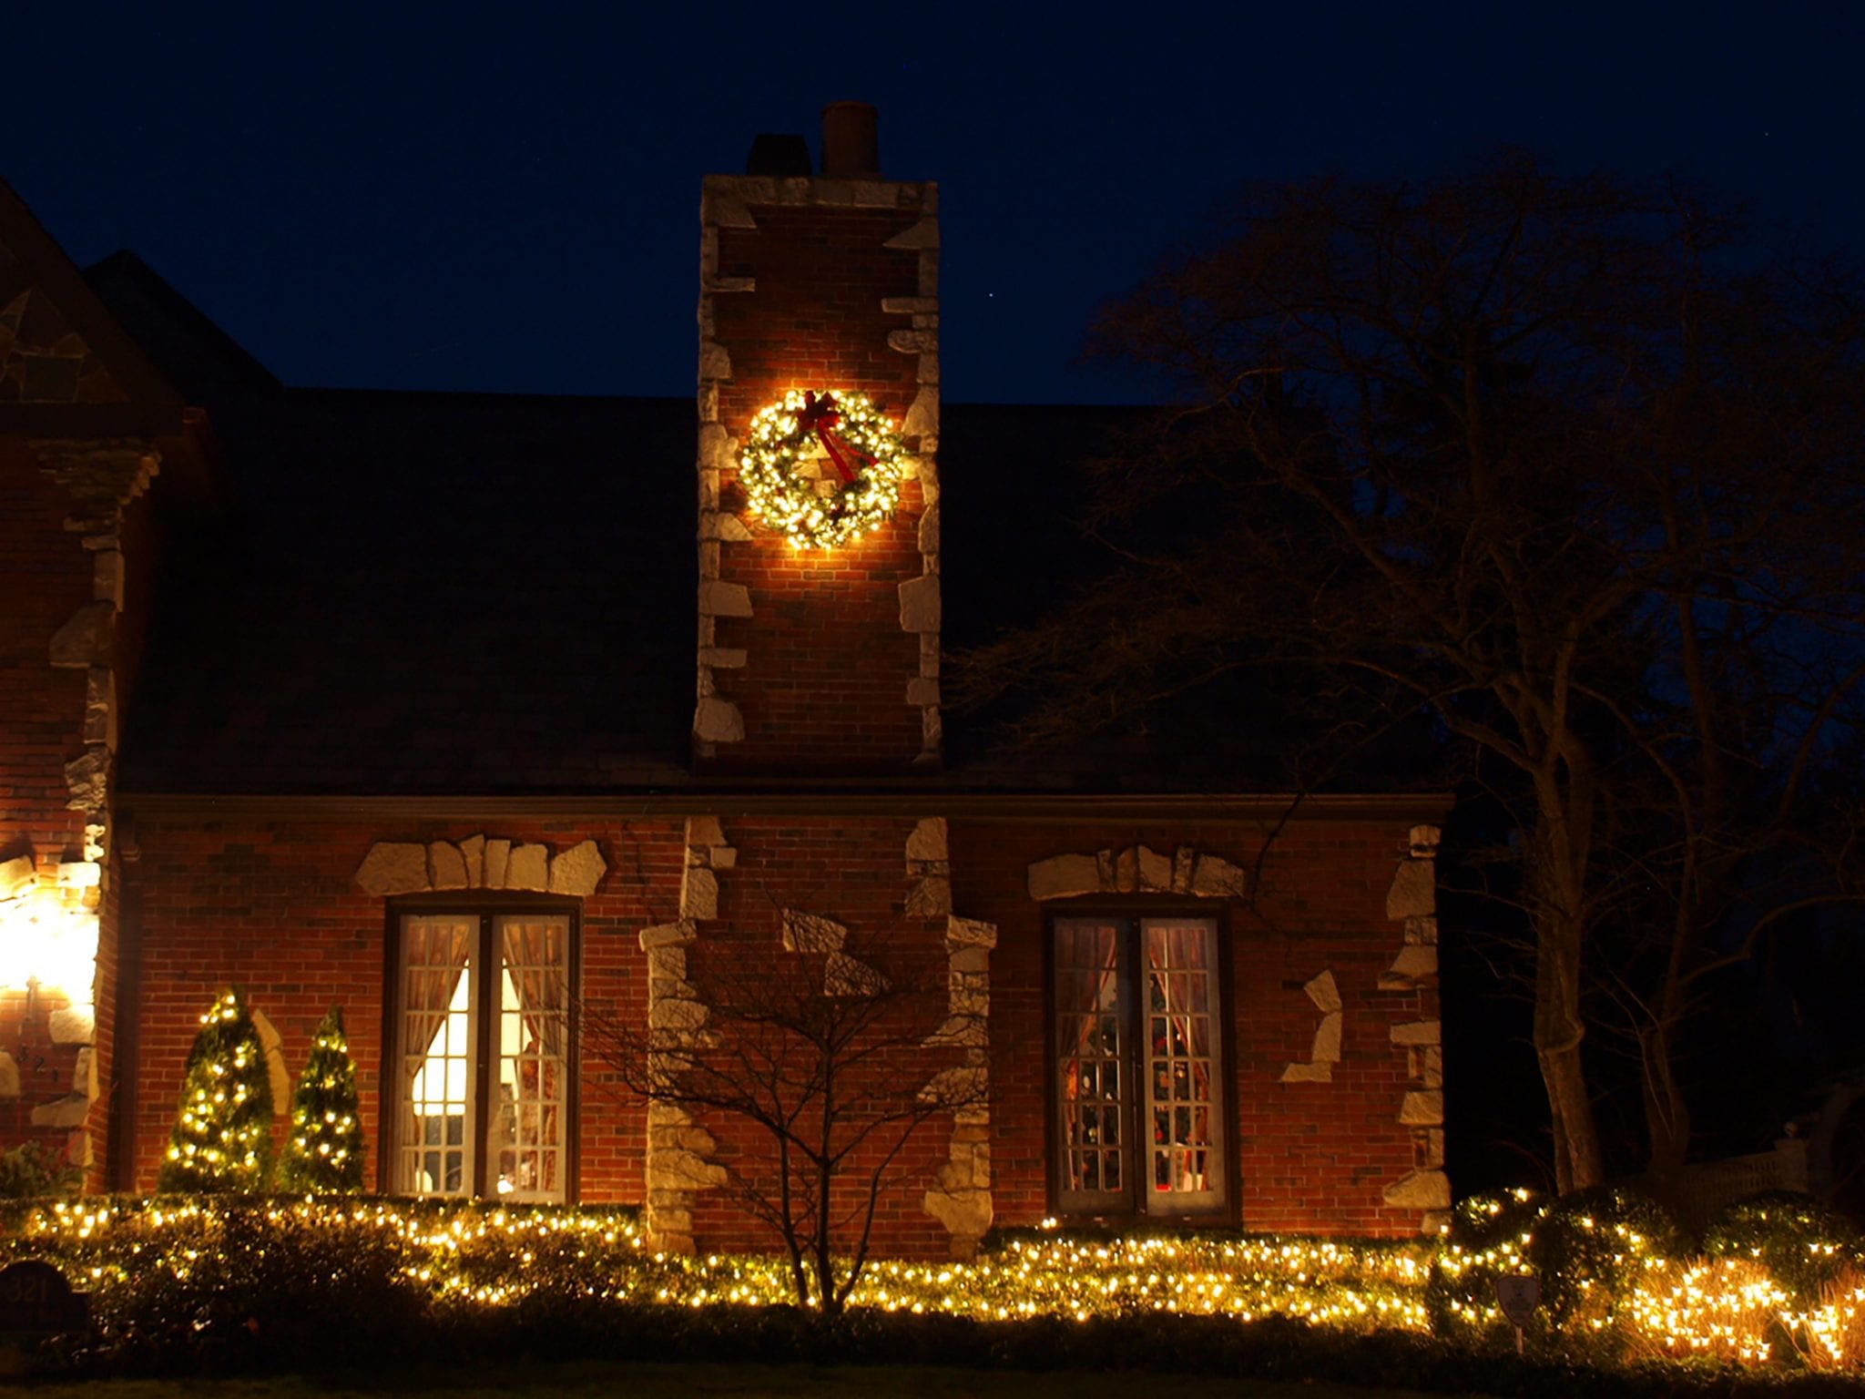
<svg viewBox="0 0 1865 1399">
<path fill-rule="evenodd" d="M 946 895 L 946 1020 L 927 1035 L 927 1048 L 959 1048 L 960 1063 L 932 1074 L 921 1093 L 951 1097 L 951 1140 L 946 1164 L 921 1207 L 946 1226 L 951 1255 L 968 1259 L 990 1229 L 990 949 L 998 925 L 951 914 L 951 854 L 946 819 L 927 817 L 906 838 L 906 875 L 936 880 Z M 910 899 L 908 899 L 910 903 Z"/>
</svg>

